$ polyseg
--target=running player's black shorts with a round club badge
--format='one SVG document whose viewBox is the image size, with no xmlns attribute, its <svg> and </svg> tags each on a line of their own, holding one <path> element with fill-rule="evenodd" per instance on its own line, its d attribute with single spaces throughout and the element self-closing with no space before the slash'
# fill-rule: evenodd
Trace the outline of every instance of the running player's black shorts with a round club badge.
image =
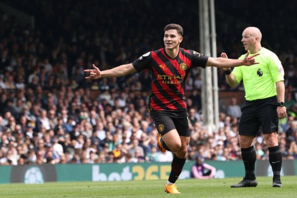
<svg viewBox="0 0 297 198">
<path fill-rule="evenodd" d="M 190 128 L 187 111 L 151 111 L 152 118 L 158 133 L 161 136 L 176 129 L 179 136 L 190 137 Z"/>
</svg>

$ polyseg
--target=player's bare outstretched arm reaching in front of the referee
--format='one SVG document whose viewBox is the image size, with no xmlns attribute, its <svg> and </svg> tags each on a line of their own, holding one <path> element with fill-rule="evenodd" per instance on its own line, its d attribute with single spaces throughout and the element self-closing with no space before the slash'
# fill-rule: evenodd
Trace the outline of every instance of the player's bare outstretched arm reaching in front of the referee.
<svg viewBox="0 0 297 198">
<path fill-rule="evenodd" d="M 250 66 L 250 65 L 254 65 L 254 64 L 258 64 L 258 62 L 255 62 L 254 57 L 259 55 L 259 53 L 248 56 L 249 55 L 249 51 L 247 51 L 247 54 L 245 56 L 244 59 L 239 60 L 239 59 L 229 59 L 229 58 L 223 58 L 223 57 L 217 57 L 217 58 L 213 58 L 213 57 L 209 57 L 206 63 L 206 66 L 214 66 L 214 67 L 219 67 L 219 68 L 223 68 L 223 67 L 238 67 L 238 66 Z"/>
</svg>

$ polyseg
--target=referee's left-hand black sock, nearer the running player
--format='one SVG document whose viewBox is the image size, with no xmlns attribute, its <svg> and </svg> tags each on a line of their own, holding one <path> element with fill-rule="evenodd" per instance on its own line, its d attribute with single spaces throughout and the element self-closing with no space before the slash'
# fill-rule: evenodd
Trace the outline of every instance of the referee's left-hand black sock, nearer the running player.
<svg viewBox="0 0 297 198">
<path fill-rule="evenodd" d="M 246 176 L 247 180 L 256 179 L 255 176 L 255 162 L 256 162 L 256 151 L 253 146 L 250 148 L 241 148 L 242 157 L 245 164 Z"/>
</svg>

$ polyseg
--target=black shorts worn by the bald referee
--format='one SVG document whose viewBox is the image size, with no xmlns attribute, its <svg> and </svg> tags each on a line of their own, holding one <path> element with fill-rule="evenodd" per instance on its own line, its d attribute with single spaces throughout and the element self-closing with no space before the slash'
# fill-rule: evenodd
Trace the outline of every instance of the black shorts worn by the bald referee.
<svg viewBox="0 0 297 198">
<path fill-rule="evenodd" d="M 239 135 L 256 136 L 260 127 L 263 134 L 278 132 L 277 98 L 247 100 L 241 107 Z"/>
</svg>

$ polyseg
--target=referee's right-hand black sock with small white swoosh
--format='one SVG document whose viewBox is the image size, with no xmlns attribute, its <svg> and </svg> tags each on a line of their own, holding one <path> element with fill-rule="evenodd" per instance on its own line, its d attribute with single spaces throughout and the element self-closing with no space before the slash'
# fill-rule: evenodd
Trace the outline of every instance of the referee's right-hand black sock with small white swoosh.
<svg viewBox="0 0 297 198">
<path fill-rule="evenodd" d="M 273 179 L 281 178 L 281 169 L 282 169 L 282 151 L 279 146 L 270 147 L 269 150 L 269 162 L 273 171 Z"/>
</svg>

